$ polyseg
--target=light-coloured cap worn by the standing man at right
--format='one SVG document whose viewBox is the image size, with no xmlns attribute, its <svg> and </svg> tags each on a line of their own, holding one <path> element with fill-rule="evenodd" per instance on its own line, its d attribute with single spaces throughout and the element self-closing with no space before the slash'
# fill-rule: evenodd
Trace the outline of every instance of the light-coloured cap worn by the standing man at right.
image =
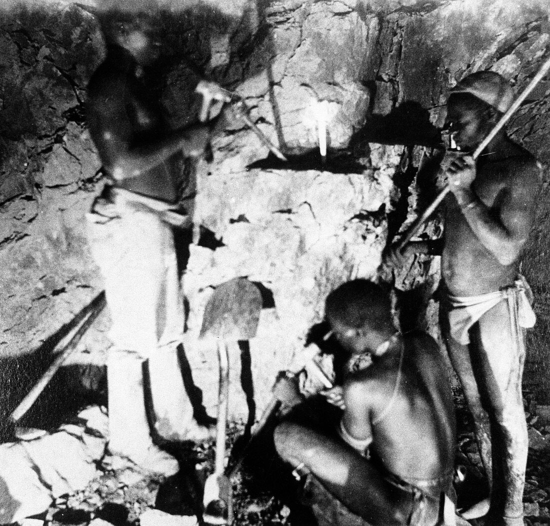
<svg viewBox="0 0 550 526">
<path fill-rule="evenodd" d="M 510 83 L 494 71 L 477 71 L 464 77 L 450 89 L 450 95 L 453 93 L 470 93 L 501 113 L 505 113 L 514 102 L 514 90 Z"/>
</svg>

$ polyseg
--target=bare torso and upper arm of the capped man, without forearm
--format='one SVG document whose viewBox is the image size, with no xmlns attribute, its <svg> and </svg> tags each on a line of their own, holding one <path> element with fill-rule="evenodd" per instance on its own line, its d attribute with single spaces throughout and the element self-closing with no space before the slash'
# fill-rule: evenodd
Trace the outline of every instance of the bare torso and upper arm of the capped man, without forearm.
<svg viewBox="0 0 550 526">
<path fill-rule="evenodd" d="M 533 157 L 515 143 L 498 159 L 477 163 L 471 189 L 487 207 L 488 235 L 508 235 L 510 250 L 519 252 L 531 228 L 538 192 L 538 169 Z M 490 159 L 490 160 L 489 160 Z M 497 258 L 498 248 L 485 246 L 472 230 L 453 195 L 445 199 L 442 278 L 455 296 L 474 296 L 510 285 L 518 273 L 518 256 L 511 262 Z M 481 219 L 483 221 L 483 219 Z M 492 224 L 492 223 L 494 224 Z M 500 229 L 500 230 L 499 230 Z"/>
</svg>

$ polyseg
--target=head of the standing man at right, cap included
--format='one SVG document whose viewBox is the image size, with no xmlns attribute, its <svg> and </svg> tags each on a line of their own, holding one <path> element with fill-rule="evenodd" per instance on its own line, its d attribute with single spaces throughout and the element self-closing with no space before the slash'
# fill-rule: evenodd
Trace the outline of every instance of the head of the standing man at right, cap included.
<svg viewBox="0 0 550 526">
<path fill-rule="evenodd" d="M 450 90 L 447 126 L 461 150 L 474 150 L 513 99 L 509 82 L 494 71 L 478 71 L 458 82 Z"/>
</svg>

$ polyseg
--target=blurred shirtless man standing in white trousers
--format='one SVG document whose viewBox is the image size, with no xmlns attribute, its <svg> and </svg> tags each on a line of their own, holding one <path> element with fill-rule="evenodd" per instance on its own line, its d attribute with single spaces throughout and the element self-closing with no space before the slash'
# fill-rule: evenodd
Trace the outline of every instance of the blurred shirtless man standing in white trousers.
<svg viewBox="0 0 550 526">
<path fill-rule="evenodd" d="M 155 13 L 109 9 L 100 23 L 107 56 L 90 80 L 88 124 L 108 182 L 89 226 L 113 321 L 109 450 L 171 475 L 178 463 L 152 436 L 205 440 L 213 431 L 195 421 L 179 367 L 184 312 L 171 225 L 185 222 L 177 204 L 185 159 L 201 156 L 209 133 L 169 131 L 163 119 L 149 76 L 159 57 Z"/>
</svg>

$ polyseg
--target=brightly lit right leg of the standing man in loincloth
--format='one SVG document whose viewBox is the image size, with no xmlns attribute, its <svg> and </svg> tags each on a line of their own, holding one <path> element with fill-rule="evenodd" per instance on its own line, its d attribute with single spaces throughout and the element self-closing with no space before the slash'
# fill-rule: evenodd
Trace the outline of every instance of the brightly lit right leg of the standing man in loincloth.
<svg viewBox="0 0 550 526">
<path fill-rule="evenodd" d="M 515 309 L 515 303 L 513 303 Z M 512 312 L 512 317 L 515 312 Z M 523 524 L 523 490 L 527 463 L 527 424 L 521 378 L 525 360 L 524 334 L 516 330 L 507 301 L 483 315 L 472 337 L 480 352 L 480 373 L 485 383 L 491 419 L 494 473 L 491 509 L 494 524 Z"/>
</svg>

